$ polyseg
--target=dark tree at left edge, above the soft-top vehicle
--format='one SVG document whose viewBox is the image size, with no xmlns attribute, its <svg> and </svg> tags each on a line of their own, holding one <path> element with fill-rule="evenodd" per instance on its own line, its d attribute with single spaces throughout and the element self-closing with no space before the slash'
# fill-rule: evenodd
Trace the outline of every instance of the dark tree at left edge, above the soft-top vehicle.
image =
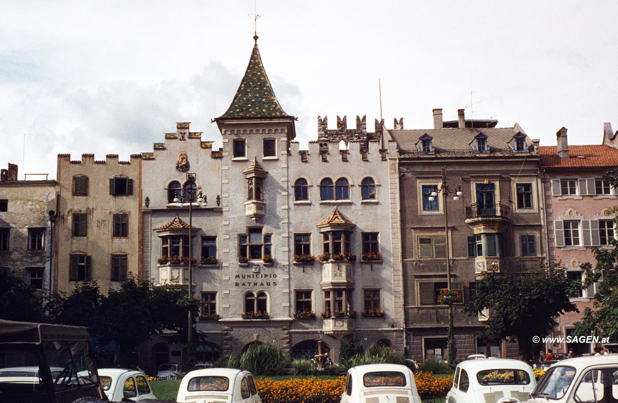
<svg viewBox="0 0 618 403">
<path fill-rule="evenodd" d="M 45 299 L 10 268 L 0 267 L 0 319 L 46 322 Z"/>
</svg>

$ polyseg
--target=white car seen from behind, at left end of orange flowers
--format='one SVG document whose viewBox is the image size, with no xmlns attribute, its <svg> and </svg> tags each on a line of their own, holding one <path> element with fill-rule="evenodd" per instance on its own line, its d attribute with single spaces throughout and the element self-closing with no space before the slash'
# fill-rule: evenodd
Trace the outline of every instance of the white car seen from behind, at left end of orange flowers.
<svg viewBox="0 0 618 403">
<path fill-rule="evenodd" d="M 261 403 L 249 371 L 207 368 L 190 371 L 180 381 L 177 402 Z"/>
</svg>

